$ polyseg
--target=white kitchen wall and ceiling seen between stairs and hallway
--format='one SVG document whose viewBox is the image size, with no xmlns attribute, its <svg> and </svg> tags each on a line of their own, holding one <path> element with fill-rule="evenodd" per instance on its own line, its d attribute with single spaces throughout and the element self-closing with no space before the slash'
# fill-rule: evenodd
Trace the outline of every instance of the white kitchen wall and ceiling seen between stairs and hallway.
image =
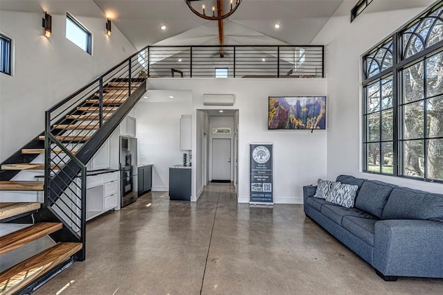
<svg viewBox="0 0 443 295">
<path fill-rule="evenodd" d="M 146 96 L 135 108 L 138 165 L 153 164 L 152 190 L 168 191 L 170 166 L 183 163 L 180 118 L 192 113 L 192 94 L 150 90 Z"/>
</svg>

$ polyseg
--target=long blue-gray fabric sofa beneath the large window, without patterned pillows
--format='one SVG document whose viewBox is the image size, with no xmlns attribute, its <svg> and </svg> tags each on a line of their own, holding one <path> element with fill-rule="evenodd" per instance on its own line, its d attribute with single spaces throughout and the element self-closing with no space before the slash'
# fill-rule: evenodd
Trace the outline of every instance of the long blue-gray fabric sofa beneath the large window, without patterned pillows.
<svg viewBox="0 0 443 295">
<path fill-rule="evenodd" d="M 303 188 L 308 217 L 368 262 L 384 280 L 443 278 L 443 195 L 340 175 L 359 186 L 354 208 L 313 197 Z"/>
</svg>

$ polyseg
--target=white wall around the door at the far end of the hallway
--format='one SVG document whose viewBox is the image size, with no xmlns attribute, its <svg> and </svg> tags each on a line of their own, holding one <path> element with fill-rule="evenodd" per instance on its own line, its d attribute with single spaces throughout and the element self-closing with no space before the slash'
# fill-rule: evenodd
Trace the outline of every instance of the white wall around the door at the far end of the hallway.
<svg viewBox="0 0 443 295">
<path fill-rule="evenodd" d="M 229 127 L 230 134 L 214 134 L 213 128 L 217 127 Z M 209 117 L 209 145 L 208 145 L 208 154 L 209 154 L 209 179 L 213 179 L 213 157 L 217 157 L 217 155 L 213 154 L 213 139 L 214 138 L 229 138 L 230 139 L 230 180 L 234 179 L 234 170 L 233 170 L 233 161 L 234 159 L 234 117 Z"/>
</svg>

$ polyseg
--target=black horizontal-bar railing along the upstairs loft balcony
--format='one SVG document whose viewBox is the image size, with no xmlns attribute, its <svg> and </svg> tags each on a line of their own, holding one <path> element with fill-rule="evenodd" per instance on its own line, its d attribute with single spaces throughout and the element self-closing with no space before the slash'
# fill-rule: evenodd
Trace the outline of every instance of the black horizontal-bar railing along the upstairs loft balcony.
<svg viewBox="0 0 443 295">
<path fill-rule="evenodd" d="M 150 78 L 324 78 L 324 46 L 147 46 Z"/>
</svg>

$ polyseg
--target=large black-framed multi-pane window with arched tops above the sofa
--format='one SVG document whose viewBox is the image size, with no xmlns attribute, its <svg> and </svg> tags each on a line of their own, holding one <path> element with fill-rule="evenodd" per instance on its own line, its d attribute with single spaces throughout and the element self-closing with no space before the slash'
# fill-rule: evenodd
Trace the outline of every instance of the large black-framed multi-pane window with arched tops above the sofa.
<svg viewBox="0 0 443 295">
<path fill-rule="evenodd" d="M 363 56 L 363 170 L 443 181 L 443 3 Z"/>
</svg>

